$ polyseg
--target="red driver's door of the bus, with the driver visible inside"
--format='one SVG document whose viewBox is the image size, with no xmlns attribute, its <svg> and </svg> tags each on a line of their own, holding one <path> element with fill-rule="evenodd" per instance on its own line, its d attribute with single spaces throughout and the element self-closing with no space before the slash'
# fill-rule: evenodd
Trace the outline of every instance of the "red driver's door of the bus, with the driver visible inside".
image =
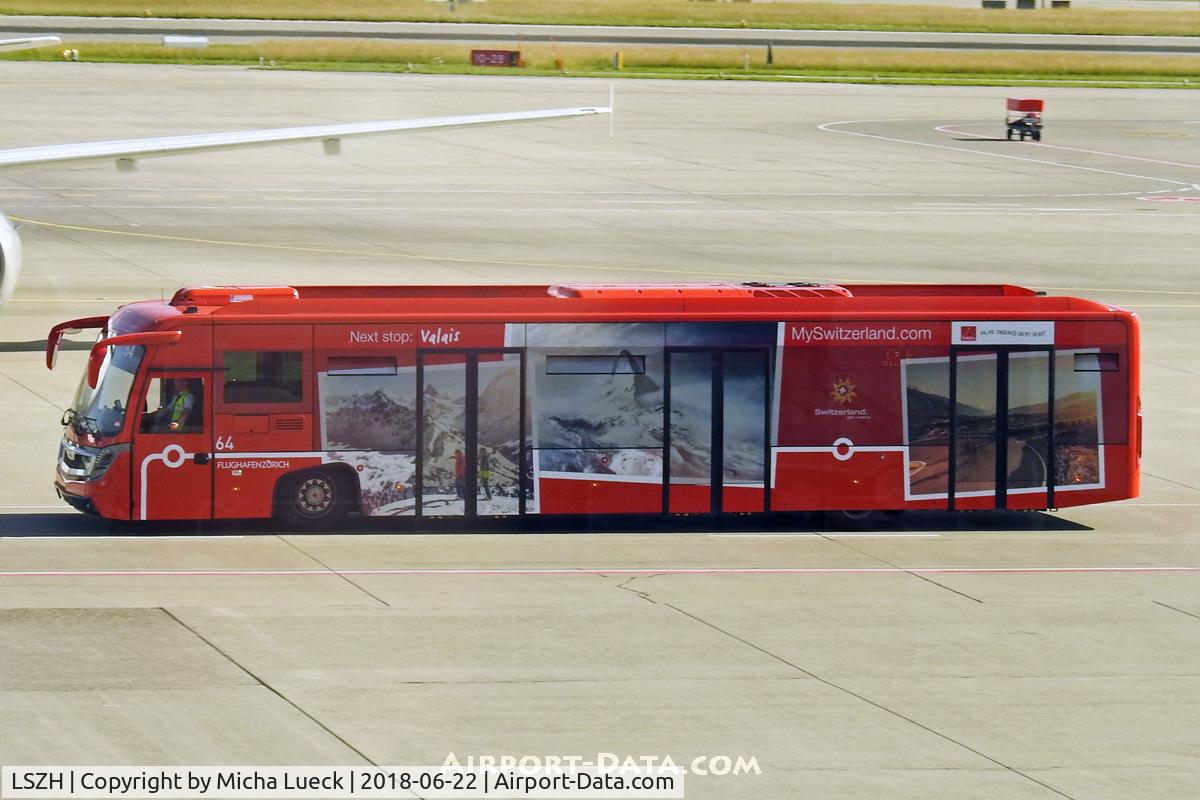
<svg viewBox="0 0 1200 800">
<path fill-rule="evenodd" d="M 133 518 L 212 516 L 211 373 L 150 369 L 133 431 Z"/>
</svg>

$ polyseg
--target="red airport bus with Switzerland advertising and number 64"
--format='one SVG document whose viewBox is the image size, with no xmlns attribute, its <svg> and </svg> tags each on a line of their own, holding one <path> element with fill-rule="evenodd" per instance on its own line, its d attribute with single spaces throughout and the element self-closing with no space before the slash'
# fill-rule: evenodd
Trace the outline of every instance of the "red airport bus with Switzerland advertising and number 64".
<svg viewBox="0 0 1200 800">
<path fill-rule="evenodd" d="M 1042 510 L 1136 497 L 1139 331 L 1013 285 L 182 289 L 100 329 L 112 519 Z"/>
</svg>

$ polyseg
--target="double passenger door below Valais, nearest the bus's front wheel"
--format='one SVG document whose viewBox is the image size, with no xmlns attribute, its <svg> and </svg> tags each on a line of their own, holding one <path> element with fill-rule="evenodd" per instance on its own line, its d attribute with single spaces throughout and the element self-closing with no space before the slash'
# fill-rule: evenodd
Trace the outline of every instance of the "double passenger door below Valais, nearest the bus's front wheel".
<svg viewBox="0 0 1200 800">
<path fill-rule="evenodd" d="M 418 350 L 418 517 L 526 513 L 524 372 L 520 348 Z"/>
</svg>

